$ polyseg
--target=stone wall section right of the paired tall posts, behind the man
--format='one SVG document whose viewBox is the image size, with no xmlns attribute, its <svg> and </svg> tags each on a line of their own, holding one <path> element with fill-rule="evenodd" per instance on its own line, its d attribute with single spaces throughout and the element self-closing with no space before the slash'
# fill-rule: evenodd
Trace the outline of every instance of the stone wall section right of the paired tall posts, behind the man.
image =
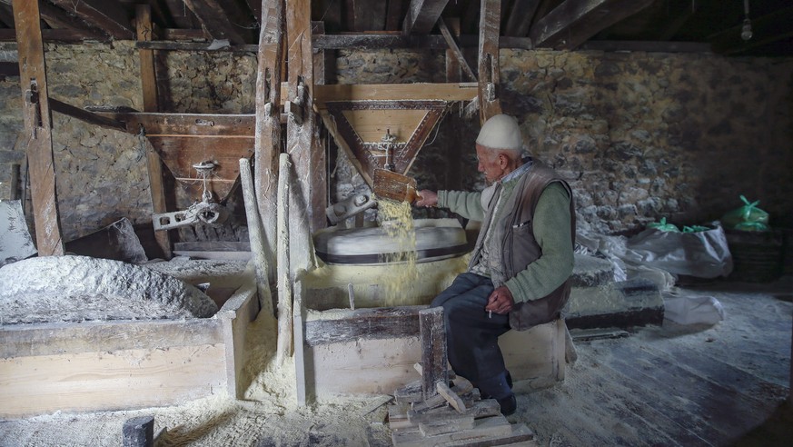
<svg viewBox="0 0 793 447">
<path fill-rule="evenodd" d="M 340 84 L 439 82 L 444 73 L 442 55 L 340 60 Z M 391 77 L 375 68 L 419 65 Z M 772 226 L 793 226 L 793 60 L 502 50 L 501 83 L 529 152 L 571 179 L 581 227 L 705 224 L 741 206 L 740 194 L 759 200 Z M 481 187 L 478 129 L 477 118 L 447 115 L 411 170 L 420 188 Z"/>
</svg>

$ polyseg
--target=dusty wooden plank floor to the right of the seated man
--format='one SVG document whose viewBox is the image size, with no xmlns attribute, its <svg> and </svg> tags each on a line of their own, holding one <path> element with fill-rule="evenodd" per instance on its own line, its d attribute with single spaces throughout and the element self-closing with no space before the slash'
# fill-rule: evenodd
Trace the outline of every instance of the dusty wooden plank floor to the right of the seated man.
<svg viewBox="0 0 793 447">
<path fill-rule="evenodd" d="M 713 296 L 714 326 L 640 328 L 579 341 L 565 382 L 518 394 L 540 445 L 793 445 L 789 392 L 791 278 L 726 281 L 682 293 Z"/>
</svg>

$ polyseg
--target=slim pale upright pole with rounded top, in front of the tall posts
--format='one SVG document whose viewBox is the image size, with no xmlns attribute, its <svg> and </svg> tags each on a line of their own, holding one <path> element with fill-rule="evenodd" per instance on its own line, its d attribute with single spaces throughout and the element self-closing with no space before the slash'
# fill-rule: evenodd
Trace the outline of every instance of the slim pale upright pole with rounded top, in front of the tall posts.
<svg viewBox="0 0 793 447">
<path fill-rule="evenodd" d="M 292 188 L 289 154 L 281 154 L 278 165 L 278 342 L 276 364 L 292 354 L 292 263 L 290 262 L 289 190 Z"/>
</svg>

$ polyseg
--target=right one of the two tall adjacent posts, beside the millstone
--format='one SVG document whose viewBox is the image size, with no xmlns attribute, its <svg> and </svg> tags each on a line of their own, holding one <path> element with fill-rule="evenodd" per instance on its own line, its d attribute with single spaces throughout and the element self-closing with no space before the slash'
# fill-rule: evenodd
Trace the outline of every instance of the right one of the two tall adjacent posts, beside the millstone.
<svg viewBox="0 0 793 447">
<path fill-rule="evenodd" d="M 298 124 L 290 119 L 287 123 L 286 150 L 294 164 L 295 181 L 291 188 L 298 192 L 297 200 L 290 209 L 290 227 L 296 222 L 307 220 L 311 233 L 326 226 L 326 169 L 325 153 L 317 147 L 317 125 L 313 114 L 314 82 L 312 60 L 311 0 L 296 0 L 286 8 L 286 30 L 288 52 L 288 94 L 286 100 L 300 104 L 306 119 Z M 305 210 L 306 214 L 298 214 Z M 295 253 L 312 255 L 311 247 L 295 247 Z M 308 262 L 305 262 L 308 264 Z M 302 262 L 293 263 L 292 268 L 306 268 Z"/>
</svg>

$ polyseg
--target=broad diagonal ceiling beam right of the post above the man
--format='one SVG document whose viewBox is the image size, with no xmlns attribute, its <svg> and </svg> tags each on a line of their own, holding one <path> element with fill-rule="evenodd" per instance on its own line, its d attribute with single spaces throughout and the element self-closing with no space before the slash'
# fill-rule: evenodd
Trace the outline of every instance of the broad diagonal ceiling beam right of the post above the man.
<svg viewBox="0 0 793 447">
<path fill-rule="evenodd" d="M 531 27 L 529 38 L 538 48 L 573 50 L 652 3 L 653 0 L 565 0 Z"/>
</svg>

